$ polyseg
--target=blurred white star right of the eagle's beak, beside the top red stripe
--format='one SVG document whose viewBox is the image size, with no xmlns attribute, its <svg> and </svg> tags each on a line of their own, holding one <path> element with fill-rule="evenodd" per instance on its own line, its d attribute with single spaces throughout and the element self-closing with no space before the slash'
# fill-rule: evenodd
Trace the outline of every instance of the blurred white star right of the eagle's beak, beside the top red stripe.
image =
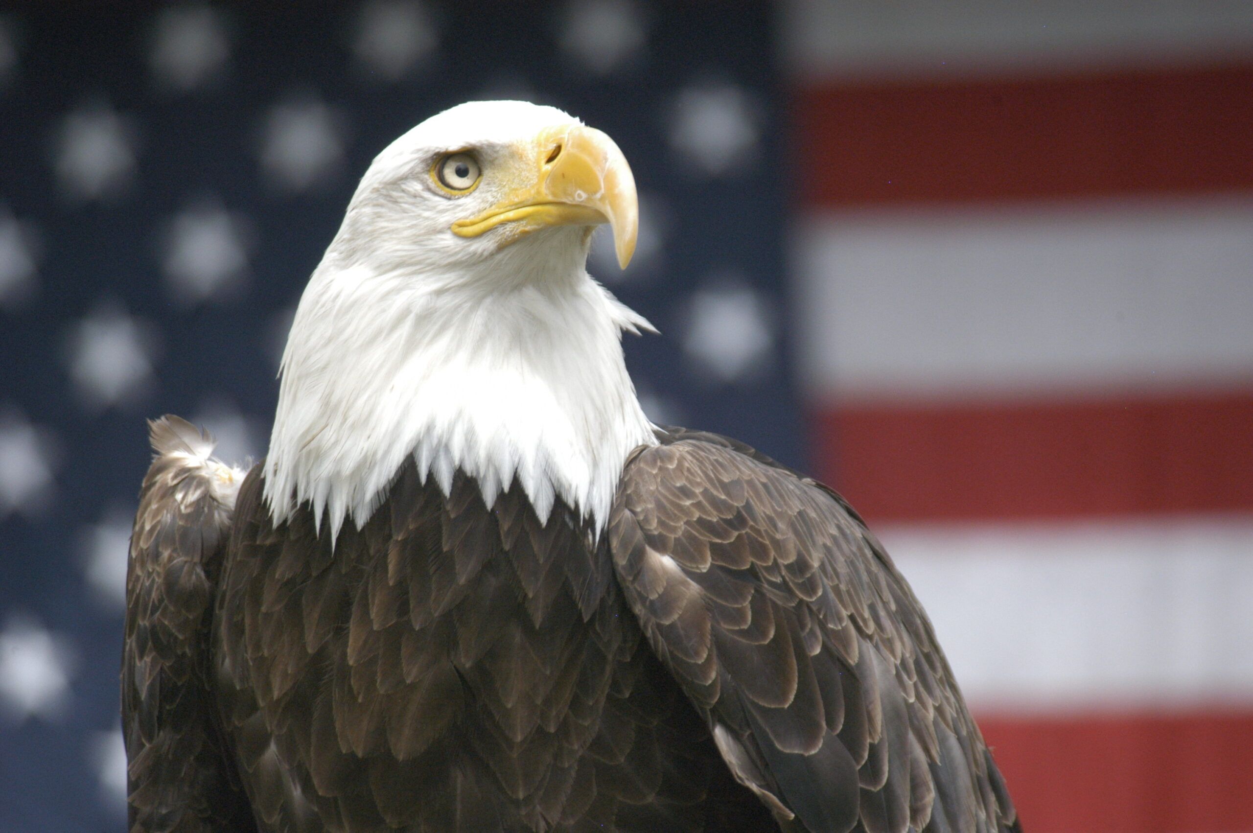
<svg viewBox="0 0 1253 833">
<path fill-rule="evenodd" d="M 670 145 L 704 173 L 717 177 L 747 162 L 759 129 L 753 104 L 729 84 L 689 86 L 674 99 Z"/>
</svg>

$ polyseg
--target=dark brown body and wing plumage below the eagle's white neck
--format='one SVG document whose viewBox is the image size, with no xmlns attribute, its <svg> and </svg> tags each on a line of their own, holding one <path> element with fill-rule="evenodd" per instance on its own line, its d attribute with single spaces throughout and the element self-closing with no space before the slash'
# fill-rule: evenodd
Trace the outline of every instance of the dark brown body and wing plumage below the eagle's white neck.
<svg viewBox="0 0 1253 833">
<path fill-rule="evenodd" d="M 332 542 L 154 423 L 133 830 L 1016 830 L 905 580 L 826 487 L 659 430 L 598 536 L 406 463 Z"/>
</svg>

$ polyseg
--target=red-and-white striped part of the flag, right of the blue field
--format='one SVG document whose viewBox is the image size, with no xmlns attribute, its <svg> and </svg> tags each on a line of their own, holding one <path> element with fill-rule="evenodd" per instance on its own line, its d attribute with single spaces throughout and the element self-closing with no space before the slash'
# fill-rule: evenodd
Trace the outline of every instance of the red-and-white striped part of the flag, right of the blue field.
<svg viewBox="0 0 1253 833">
<path fill-rule="evenodd" d="M 1253 828 L 1253 5 L 789 9 L 816 465 L 1026 829 Z"/>
</svg>

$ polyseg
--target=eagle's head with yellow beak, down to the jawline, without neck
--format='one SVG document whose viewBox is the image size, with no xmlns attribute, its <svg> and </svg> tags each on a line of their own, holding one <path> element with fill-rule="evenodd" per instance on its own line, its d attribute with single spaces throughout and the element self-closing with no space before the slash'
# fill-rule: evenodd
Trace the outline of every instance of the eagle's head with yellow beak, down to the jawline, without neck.
<svg viewBox="0 0 1253 833">
<path fill-rule="evenodd" d="M 499 278 L 566 256 L 585 258 L 593 228 L 605 223 L 625 268 L 639 204 L 613 139 L 553 106 L 470 101 L 429 118 L 378 154 L 340 238 L 357 244 L 352 254 L 380 262 L 430 271 L 437 261 L 461 277 Z M 506 253 L 523 241 L 524 254 Z M 362 242 L 376 251 L 361 251 Z"/>
</svg>

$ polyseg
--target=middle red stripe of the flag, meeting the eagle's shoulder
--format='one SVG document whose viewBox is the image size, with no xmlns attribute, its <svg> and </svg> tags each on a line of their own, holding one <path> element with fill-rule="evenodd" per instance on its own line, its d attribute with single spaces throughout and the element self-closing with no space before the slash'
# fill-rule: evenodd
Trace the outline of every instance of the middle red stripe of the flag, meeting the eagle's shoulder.
<svg viewBox="0 0 1253 833">
<path fill-rule="evenodd" d="M 813 425 L 821 476 L 872 522 L 1253 510 L 1253 392 L 848 405 Z"/>
</svg>

